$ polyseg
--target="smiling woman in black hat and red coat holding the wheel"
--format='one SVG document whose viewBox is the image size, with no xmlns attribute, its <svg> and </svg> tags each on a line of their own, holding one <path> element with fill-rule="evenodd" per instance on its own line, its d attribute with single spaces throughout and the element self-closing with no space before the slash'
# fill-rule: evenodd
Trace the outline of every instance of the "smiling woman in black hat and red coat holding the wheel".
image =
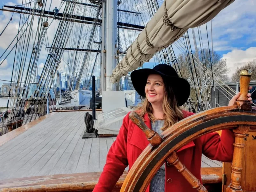
<svg viewBox="0 0 256 192">
<path fill-rule="evenodd" d="M 146 125 L 157 133 L 160 134 L 181 119 L 193 115 L 180 108 L 188 100 L 189 83 L 179 78 L 171 66 L 159 64 L 153 69 L 133 71 L 131 80 L 135 90 L 142 97 L 146 97 L 136 112 L 144 119 Z M 229 105 L 233 105 L 238 96 L 239 94 L 234 96 Z M 248 93 L 248 97 L 250 96 L 251 94 Z M 213 132 L 189 142 L 177 151 L 177 155 L 202 183 L 200 173 L 202 153 L 213 160 L 231 162 L 234 141 L 232 130 L 223 130 L 221 137 Z M 116 141 L 108 151 L 106 164 L 93 191 L 112 191 L 124 169 L 128 165 L 129 168 L 132 167 L 148 144 L 145 134 L 129 119 L 128 113 L 124 117 Z M 146 192 L 149 191 L 187 192 L 196 189 L 192 189 L 174 166 L 165 163 L 151 180 Z"/>
</svg>

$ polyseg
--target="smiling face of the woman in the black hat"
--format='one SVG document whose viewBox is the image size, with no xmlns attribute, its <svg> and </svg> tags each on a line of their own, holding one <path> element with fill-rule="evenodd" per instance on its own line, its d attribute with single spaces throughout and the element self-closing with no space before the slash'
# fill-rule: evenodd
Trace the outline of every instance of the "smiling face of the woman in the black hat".
<svg viewBox="0 0 256 192">
<path fill-rule="evenodd" d="M 148 76 L 145 93 L 150 103 L 162 103 L 164 100 L 164 81 L 160 75 Z"/>
</svg>

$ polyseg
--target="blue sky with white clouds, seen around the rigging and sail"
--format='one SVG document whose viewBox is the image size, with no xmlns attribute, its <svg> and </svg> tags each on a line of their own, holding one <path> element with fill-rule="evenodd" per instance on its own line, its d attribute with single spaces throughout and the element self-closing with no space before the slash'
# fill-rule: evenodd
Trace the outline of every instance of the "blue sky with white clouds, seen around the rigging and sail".
<svg viewBox="0 0 256 192">
<path fill-rule="evenodd" d="M 21 0 L 3 0 L 0 4 L 3 5 L 18 5 Z M 60 0 L 52 0 L 51 8 L 59 7 Z M 0 6 L 0 7 L 2 7 Z M 227 59 L 227 66 L 230 68 L 229 76 L 232 75 L 236 67 L 242 66 L 250 60 L 256 59 L 256 0 L 235 0 L 227 8 L 222 10 L 213 20 L 212 29 L 211 23 L 207 23 L 208 35 L 210 38 L 210 47 L 217 51 L 223 58 Z M 0 11 L 0 34 L 12 16 L 11 12 Z M 13 18 L 19 18 L 15 13 Z M 33 26 L 35 27 L 35 26 Z M 0 55 L 2 55 L 11 43 L 13 37 L 17 34 L 17 22 L 10 22 L 4 33 L 0 36 Z M 196 29 L 197 30 L 197 29 Z M 212 34 L 211 34 L 212 30 Z M 202 38 L 204 47 L 208 46 L 205 25 L 201 26 Z M 211 39 L 212 35 L 212 39 Z M 192 32 L 189 30 L 189 36 L 192 37 Z M 190 38 L 193 41 L 193 38 Z M 199 40 L 197 39 L 197 42 Z M 173 44 L 176 56 L 180 51 Z M 192 48 L 193 49 L 193 48 Z M 10 50 L 10 49 L 9 49 Z M 40 55 L 42 60 L 45 60 L 47 54 Z M 12 64 L 14 51 L 4 60 L 0 66 L 0 79 L 11 80 Z M 0 59 L 0 63 L 2 59 Z M 143 68 L 152 68 L 156 63 L 154 60 L 145 63 Z M 43 63 L 39 65 L 43 67 Z M 98 72 L 97 72 L 98 73 Z M 94 74 L 97 76 L 97 74 Z M 63 80 L 62 80 L 63 81 Z M 0 81 L 0 86 L 4 83 Z"/>
</svg>

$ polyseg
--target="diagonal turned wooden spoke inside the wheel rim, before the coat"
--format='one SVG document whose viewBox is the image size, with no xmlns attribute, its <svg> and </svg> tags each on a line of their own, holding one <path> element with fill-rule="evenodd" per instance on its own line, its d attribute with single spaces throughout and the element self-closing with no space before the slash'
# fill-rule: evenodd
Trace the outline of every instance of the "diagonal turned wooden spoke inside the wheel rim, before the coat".
<svg viewBox="0 0 256 192">
<path fill-rule="evenodd" d="M 199 192 L 207 192 L 207 189 L 200 183 L 196 176 L 193 175 L 183 163 L 181 163 L 179 157 L 174 151 L 165 160 L 167 163 L 173 165 L 193 188 Z"/>
</svg>

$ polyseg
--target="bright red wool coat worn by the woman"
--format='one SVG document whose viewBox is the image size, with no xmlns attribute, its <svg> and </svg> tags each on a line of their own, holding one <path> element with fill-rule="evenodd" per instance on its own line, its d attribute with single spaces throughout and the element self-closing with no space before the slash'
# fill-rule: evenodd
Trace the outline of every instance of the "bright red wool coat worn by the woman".
<svg viewBox="0 0 256 192">
<path fill-rule="evenodd" d="M 183 111 L 184 117 L 194 113 Z M 148 115 L 144 116 L 145 124 L 151 129 Z M 223 130 L 221 136 L 216 133 L 205 134 L 194 141 L 189 142 L 177 151 L 180 161 L 186 165 L 196 178 L 201 179 L 202 153 L 212 160 L 232 162 L 233 143 L 235 136 L 232 130 Z M 116 141 L 108 151 L 107 161 L 100 175 L 99 182 L 93 192 L 111 192 L 116 182 L 129 165 L 129 170 L 148 146 L 149 142 L 140 128 L 129 119 L 129 113 L 124 117 Z M 165 191 L 196 192 L 184 177 L 177 172 L 174 166 L 165 163 Z M 171 180 L 168 180 L 171 179 Z M 168 182 L 168 181 L 169 182 Z M 170 182 L 171 181 L 171 182 Z M 149 192 L 149 186 L 146 190 Z"/>
</svg>

